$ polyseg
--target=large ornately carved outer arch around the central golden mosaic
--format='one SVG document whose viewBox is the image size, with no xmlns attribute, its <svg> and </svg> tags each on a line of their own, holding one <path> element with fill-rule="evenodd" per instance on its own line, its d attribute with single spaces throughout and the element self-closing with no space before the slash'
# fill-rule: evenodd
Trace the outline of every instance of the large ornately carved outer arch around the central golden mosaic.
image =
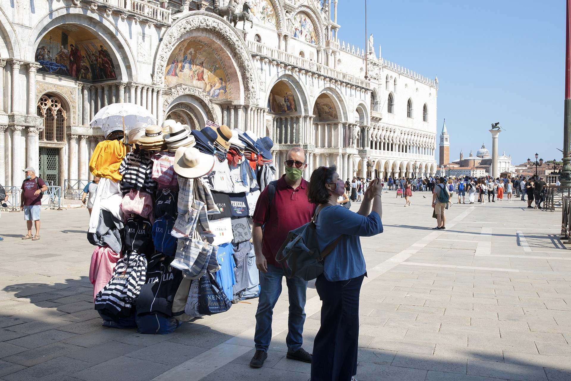
<svg viewBox="0 0 571 381">
<path fill-rule="evenodd" d="M 224 59 L 227 69 L 234 71 L 235 79 L 238 81 L 235 89 L 240 91 L 240 97 L 233 98 L 247 105 L 258 103 L 258 75 L 242 35 L 238 34 L 225 19 L 205 11 L 193 11 L 179 18 L 163 36 L 156 50 L 153 70 L 155 81 L 159 85 L 164 85 L 167 59 L 176 46 L 188 38 L 212 42 L 221 47 L 218 53 Z"/>
</svg>

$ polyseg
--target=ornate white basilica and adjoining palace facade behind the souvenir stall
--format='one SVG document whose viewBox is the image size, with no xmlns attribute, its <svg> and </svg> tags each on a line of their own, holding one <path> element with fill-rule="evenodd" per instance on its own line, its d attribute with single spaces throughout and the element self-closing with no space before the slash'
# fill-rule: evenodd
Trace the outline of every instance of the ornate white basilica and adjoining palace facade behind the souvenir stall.
<svg viewBox="0 0 571 381">
<path fill-rule="evenodd" d="M 90 121 L 114 102 L 269 136 L 276 175 L 293 145 L 306 175 L 434 174 L 437 79 L 339 30 L 337 0 L 2 2 L 0 183 L 27 166 L 54 186 L 90 179 Z"/>
</svg>

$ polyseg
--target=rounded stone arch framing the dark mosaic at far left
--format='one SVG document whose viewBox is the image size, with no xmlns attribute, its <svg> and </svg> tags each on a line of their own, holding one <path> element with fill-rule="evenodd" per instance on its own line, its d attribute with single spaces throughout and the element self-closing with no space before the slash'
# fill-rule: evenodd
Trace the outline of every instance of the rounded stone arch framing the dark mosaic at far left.
<svg viewBox="0 0 571 381">
<path fill-rule="evenodd" d="M 93 13 L 93 12 L 91 12 Z M 31 29 L 25 45 L 25 58 L 34 61 L 35 51 L 42 37 L 51 29 L 64 25 L 75 24 L 89 30 L 103 43 L 106 43 L 109 54 L 115 65 L 119 66 L 116 79 L 120 81 L 136 81 L 138 68 L 135 55 L 128 43 L 129 39 L 115 27 L 114 22 L 105 15 L 95 13 L 99 18 L 92 17 L 87 7 L 61 7 L 41 18 Z M 116 70 L 117 71 L 117 70 Z"/>
</svg>

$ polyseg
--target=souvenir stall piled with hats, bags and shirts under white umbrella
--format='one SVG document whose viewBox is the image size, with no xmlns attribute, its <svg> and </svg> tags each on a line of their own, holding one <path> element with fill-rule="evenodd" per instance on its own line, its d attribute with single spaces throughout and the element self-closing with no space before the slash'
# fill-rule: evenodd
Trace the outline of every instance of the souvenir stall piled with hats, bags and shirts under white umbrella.
<svg viewBox="0 0 571 381">
<path fill-rule="evenodd" d="M 271 139 L 210 121 L 159 127 L 119 105 L 92 121 L 106 136 L 90 160 L 101 180 L 87 234 L 103 326 L 168 334 L 257 297 L 251 216 L 275 173 Z"/>
</svg>

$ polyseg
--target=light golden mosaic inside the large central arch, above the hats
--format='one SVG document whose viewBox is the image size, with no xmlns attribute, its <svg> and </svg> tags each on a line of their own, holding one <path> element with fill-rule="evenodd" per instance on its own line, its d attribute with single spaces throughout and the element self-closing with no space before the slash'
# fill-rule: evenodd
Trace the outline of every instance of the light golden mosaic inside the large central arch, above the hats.
<svg viewBox="0 0 571 381">
<path fill-rule="evenodd" d="M 184 84 L 204 91 L 210 98 L 231 99 L 226 72 L 214 51 L 196 41 L 183 41 L 168 58 L 168 87 Z"/>
</svg>

